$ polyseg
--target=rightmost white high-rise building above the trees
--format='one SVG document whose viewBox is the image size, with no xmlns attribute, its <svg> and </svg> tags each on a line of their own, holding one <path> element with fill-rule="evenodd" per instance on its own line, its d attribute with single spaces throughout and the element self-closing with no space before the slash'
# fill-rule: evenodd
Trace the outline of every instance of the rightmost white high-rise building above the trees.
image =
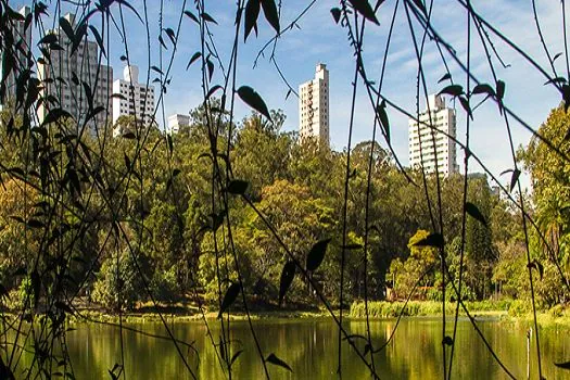
<svg viewBox="0 0 570 380">
<path fill-rule="evenodd" d="M 455 141 L 439 131 L 433 131 L 432 135 L 429 127 L 431 125 L 455 138 L 455 110 L 445 106 L 443 97 L 432 94 L 428 97 L 428 107 L 419 115 L 419 122 L 409 119 L 409 165 L 413 168 L 423 168 L 427 174 L 435 173 L 435 167 L 443 176 L 457 173 L 459 166 L 456 163 Z"/>
</svg>

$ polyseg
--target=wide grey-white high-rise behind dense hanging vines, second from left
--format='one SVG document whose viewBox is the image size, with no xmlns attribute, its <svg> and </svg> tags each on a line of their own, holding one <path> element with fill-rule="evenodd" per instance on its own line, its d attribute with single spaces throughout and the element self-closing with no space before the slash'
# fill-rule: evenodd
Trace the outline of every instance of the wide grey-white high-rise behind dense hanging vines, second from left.
<svg viewBox="0 0 570 380">
<path fill-rule="evenodd" d="M 64 18 L 75 28 L 73 13 L 67 13 Z M 87 124 L 92 132 L 96 132 L 96 129 L 102 130 L 105 124 L 111 122 L 113 67 L 99 64 L 102 54 L 99 53 L 97 42 L 87 40 L 87 37 L 84 37 L 73 51 L 73 43 L 61 27 L 48 33 L 58 36 L 58 43 L 63 49 L 50 50 L 49 58 L 45 56 L 38 63 L 38 78 L 43 81 L 45 99 L 49 94 L 58 100 L 45 101 L 40 105 L 40 123 L 50 109 L 61 107 L 68 112 L 80 127 L 89 116 L 90 109 L 102 106 L 104 111 L 99 112 Z M 92 107 L 89 104 L 90 99 Z"/>
</svg>

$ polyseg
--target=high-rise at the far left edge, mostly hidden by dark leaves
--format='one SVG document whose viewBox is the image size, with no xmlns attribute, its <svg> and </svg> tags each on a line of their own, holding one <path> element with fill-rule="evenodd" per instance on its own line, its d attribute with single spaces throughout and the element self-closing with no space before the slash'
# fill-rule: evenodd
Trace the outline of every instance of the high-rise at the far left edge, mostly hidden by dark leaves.
<svg viewBox="0 0 570 380">
<path fill-rule="evenodd" d="M 16 77 L 26 68 L 30 67 L 28 56 L 31 52 L 31 29 L 28 24 L 26 27 L 25 20 L 30 15 L 29 7 L 22 7 L 18 11 L 24 20 L 12 20 L 12 27 L 8 28 L 10 36 L 2 36 L 1 60 L 5 62 L 0 65 L 0 80 L 2 87 L 2 97 L 0 99 L 0 110 L 16 97 Z M 9 51 L 10 50 L 10 51 Z M 11 61 L 11 62 L 8 62 Z M 4 78 L 4 69 L 11 66 L 12 71 Z"/>
</svg>

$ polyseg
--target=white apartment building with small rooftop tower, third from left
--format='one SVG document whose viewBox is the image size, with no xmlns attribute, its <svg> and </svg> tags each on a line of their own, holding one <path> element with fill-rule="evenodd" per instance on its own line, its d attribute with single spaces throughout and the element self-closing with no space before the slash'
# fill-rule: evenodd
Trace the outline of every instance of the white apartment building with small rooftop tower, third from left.
<svg viewBox="0 0 570 380">
<path fill-rule="evenodd" d="M 139 84 L 139 67 L 125 66 L 123 79 L 113 83 L 113 125 L 121 116 L 134 116 L 139 125 L 149 126 L 154 117 L 154 87 Z M 121 134 L 113 129 L 113 136 Z"/>
</svg>

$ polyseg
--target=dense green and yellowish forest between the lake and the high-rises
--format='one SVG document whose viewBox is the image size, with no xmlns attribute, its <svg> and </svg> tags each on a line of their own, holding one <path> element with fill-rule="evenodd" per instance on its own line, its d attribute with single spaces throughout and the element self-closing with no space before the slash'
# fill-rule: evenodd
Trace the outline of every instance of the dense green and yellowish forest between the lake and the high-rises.
<svg viewBox="0 0 570 380">
<path fill-rule="evenodd" d="M 242 189 L 232 192 L 228 188 L 232 195 L 227 203 L 215 203 L 212 208 L 208 189 L 214 159 L 205 127 L 212 115 L 203 107 L 191 115 L 191 125 L 178 134 L 154 129 L 142 142 L 137 138 L 141 128 L 125 117 L 122 136 L 109 136 L 102 149 L 86 135 L 77 140 L 80 150 L 76 155 L 66 149 L 66 141 L 74 137 L 64 134 L 56 137 L 50 151 L 34 152 L 37 136 L 26 134 L 16 118 L 12 134 L 2 135 L 3 147 L 20 149 L 2 150 L 9 176 L 3 176 L 0 192 L 1 283 L 13 307 L 40 301 L 35 297 L 41 297 L 42 292 L 34 292 L 33 280 L 25 276 L 37 250 L 72 245 L 74 239 L 77 241 L 63 262 L 53 254 L 38 269 L 43 287 L 62 287 L 66 299 L 79 295 L 110 312 L 132 309 L 137 302 L 150 300 L 200 300 L 216 309 L 228 280 L 238 279 L 235 259 L 239 261 L 244 293 L 262 309 L 275 308 L 281 301 L 292 308 L 317 305 L 312 292 L 315 286 L 339 306 L 334 300 L 339 299 L 343 245 L 338 202 L 343 197 L 346 152 L 321 149 L 311 141 L 301 144 L 296 132 L 281 131 L 286 115 L 280 111 L 271 111 L 273 123 L 258 113 L 235 125 L 225 121 L 225 129 L 236 129 L 235 138 L 218 138 L 220 153 L 215 160 L 220 170 L 231 167 L 233 183 Z M 3 117 L 8 123 L 10 115 L 4 113 Z M 561 107 L 554 110 L 541 131 L 558 143 L 559 130 L 568 122 Z M 220 130 L 220 136 L 225 135 L 226 130 Z M 560 141 L 562 148 L 568 144 Z M 39 153 L 46 159 L 31 165 L 28 154 Z M 418 244 L 430 235 L 426 190 L 418 185 L 421 174 L 406 169 L 407 176 L 403 175 L 391 154 L 370 141 L 354 147 L 351 156 L 344 307 L 364 299 L 366 273 L 372 300 L 384 300 L 388 290 L 391 300 L 408 295 L 441 300 L 438 250 Z M 524 239 L 529 239 L 536 296 L 540 305 L 548 308 L 565 302 L 568 294 L 568 205 L 563 204 L 569 199 L 568 166 L 557 163 L 535 140 L 528 149 L 520 148 L 519 156 L 534 185 L 525 213 L 537 221 L 527 237 L 520 211 L 508 199 L 512 197 L 509 183 L 493 188 L 484 174 L 468 175 L 470 208 L 463 232 L 464 176 L 441 178 L 448 273 L 458 277 L 465 233 L 464 300 L 527 299 Z M 100 172 L 98 161 L 104 163 Z M 53 207 L 53 199 L 38 189 L 52 176 L 64 185 L 66 199 L 56 215 L 59 223 L 50 226 L 47 210 Z M 92 182 L 97 186 L 91 187 Z M 427 178 L 431 199 L 436 199 L 435 182 L 434 176 Z M 116 206 L 105 207 L 109 202 Z M 226 219 L 228 214 L 231 218 Z M 365 219 L 369 220 L 366 269 Z M 124 238 L 117 238 L 117 231 Z M 46 232 L 52 236 L 47 241 Z M 229 233 L 232 252 L 224 243 Z M 290 258 L 276 236 L 300 263 L 307 261 L 316 242 L 330 240 L 322 264 L 311 273 L 313 282 L 294 277 L 287 296 L 280 293 L 280 282 Z M 129 238 L 137 243 L 130 243 Z M 65 268 L 66 274 L 50 278 L 52 266 Z M 453 284 L 446 287 L 453 299 Z"/>
</svg>

